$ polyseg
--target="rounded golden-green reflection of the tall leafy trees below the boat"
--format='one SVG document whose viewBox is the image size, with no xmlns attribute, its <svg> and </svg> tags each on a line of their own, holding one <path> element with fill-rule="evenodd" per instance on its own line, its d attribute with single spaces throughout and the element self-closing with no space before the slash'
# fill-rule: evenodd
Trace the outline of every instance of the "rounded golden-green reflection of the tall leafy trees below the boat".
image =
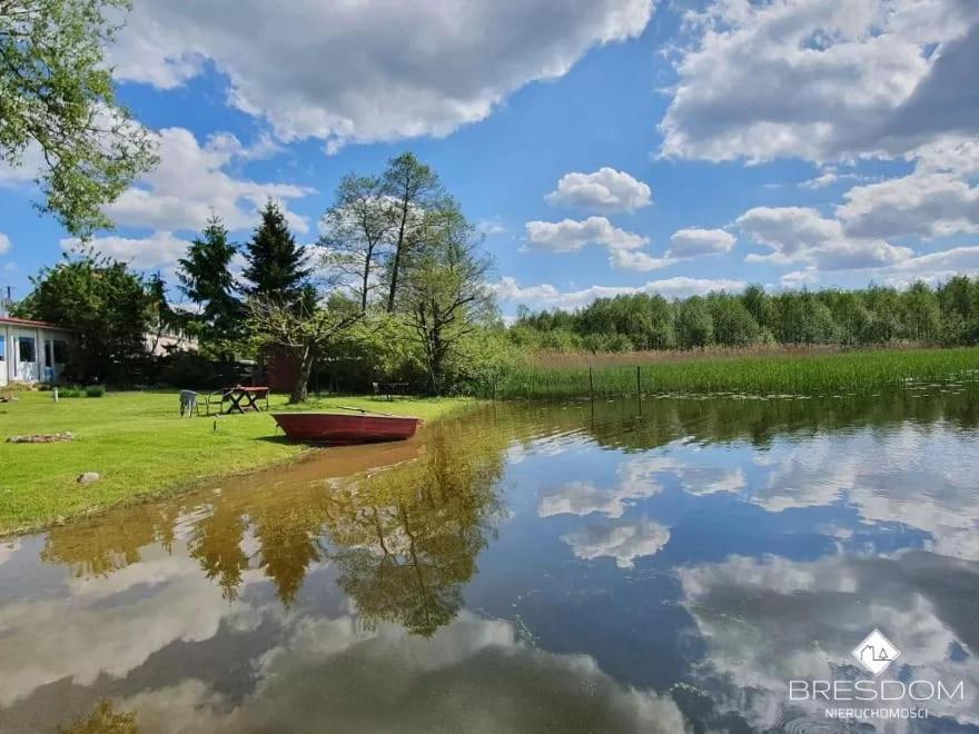
<svg viewBox="0 0 979 734">
<path fill-rule="evenodd" d="M 459 438 L 438 430 L 417 462 L 329 493 L 330 558 L 367 628 L 397 622 L 427 637 L 462 608 L 500 513 L 503 447 Z"/>
</svg>

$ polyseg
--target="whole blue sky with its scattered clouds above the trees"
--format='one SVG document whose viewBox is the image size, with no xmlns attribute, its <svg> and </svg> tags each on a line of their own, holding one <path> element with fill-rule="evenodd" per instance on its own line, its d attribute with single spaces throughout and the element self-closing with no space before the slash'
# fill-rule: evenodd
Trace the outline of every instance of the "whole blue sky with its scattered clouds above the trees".
<svg viewBox="0 0 979 734">
<path fill-rule="evenodd" d="M 970 0 L 137 0 L 111 50 L 160 167 L 93 245 L 171 277 L 211 208 L 297 236 L 413 150 L 481 222 L 504 313 L 599 295 L 979 271 Z M 0 284 L 71 247 L 0 169 Z M 178 297 L 179 298 L 179 297 Z"/>
</svg>

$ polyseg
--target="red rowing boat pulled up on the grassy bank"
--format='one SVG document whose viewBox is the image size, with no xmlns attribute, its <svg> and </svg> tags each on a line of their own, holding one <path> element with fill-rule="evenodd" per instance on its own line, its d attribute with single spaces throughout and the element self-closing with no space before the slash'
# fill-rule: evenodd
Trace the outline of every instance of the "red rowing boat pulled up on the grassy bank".
<svg viewBox="0 0 979 734">
<path fill-rule="evenodd" d="M 274 413 L 289 438 L 329 444 L 375 444 L 404 440 L 415 435 L 421 418 L 342 413 Z"/>
</svg>

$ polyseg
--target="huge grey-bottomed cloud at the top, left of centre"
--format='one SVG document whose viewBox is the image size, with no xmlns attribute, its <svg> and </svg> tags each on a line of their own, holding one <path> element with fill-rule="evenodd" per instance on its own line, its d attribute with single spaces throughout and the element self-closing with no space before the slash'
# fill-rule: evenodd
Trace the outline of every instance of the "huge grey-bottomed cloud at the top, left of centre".
<svg viewBox="0 0 979 734">
<path fill-rule="evenodd" d="M 209 61 L 230 105 L 335 150 L 482 120 L 589 49 L 639 36 L 652 12 L 653 0 L 138 2 L 112 62 L 120 80 L 172 88 Z"/>
</svg>

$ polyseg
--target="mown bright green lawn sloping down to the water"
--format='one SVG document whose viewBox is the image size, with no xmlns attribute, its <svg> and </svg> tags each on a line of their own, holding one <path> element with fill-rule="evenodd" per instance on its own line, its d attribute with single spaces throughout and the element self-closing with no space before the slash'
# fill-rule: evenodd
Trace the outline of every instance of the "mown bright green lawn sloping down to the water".
<svg viewBox="0 0 979 734">
<path fill-rule="evenodd" d="M 112 505 L 135 503 L 202 479 L 259 468 L 298 456 L 305 447 L 276 435 L 266 414 L 184 418 L 176 390 L 108 393 L 66 398 L 14 393 L 0 404 L 0 534 L 65 522 Z M 467 403 L 464 398 L 337 397 L 303 409 L 339 405 L 414 415 L 427 420 Z M 274 396 L 273 407 L 285 397 Z M 73 442 L 8 444 L 14 434 L 70 430 Z M 101 480 L 79 485 L 83 472 Z"/>
</svg>

